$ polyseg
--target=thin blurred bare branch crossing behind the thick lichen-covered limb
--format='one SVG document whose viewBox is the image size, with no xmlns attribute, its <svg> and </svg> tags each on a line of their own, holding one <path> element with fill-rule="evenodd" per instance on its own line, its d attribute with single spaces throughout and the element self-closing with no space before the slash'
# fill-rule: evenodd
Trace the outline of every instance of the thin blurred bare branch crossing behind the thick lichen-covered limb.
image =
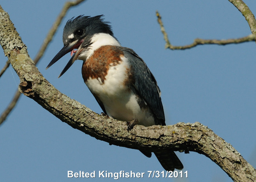
<svg viewBox="0 0 256 182">
<path fill-rule="evenodd" d="M 76 6 L 80 3 L 82 3 L 84 0 L 77 0 L 77 1 L 68 1 L 65 3 L 65 5 L 63 6 L 62 10 L 60 11 L 59 16 L 57 17 L 57 19 L 55 20 L 55 22 L 52 25 L 52 28 L 50 29 L 50 31 L 48 32 L 46 38 L 44 39 L 44 42 L 41 46 L 41 48 L 39 49 L 35 59 L 34 59 L 34 63 L 37 64 L 37 62 L 41 59 L 41 57 L 44 55 L 44 52 L 46 50 L 46 48 L 48 47 L 49 43 L 52 41 L 52 37 L 54 36 L 54 34 L 56 33 L 62 19 L 65 17 L 67 11 L 69 10 L 69 8 Z M 9 63 L 10 64 L 10 63 Z M 4 71 L 8 68 L 9 64 L 4 66 L 4 68 L 1 70 L 1 75 L 4 73 Z M 3 72 L 2 72 L 3 71 Z M 15 107 L 15 105 L 17 104 L 18 100 L 20 98 L 20 92 L 17 90 L 16 93 L 14 94 L 11 103 L 9 104 L 9 106 L 5 109 L 5 111 L 1 114 L 0 117 L 0 125 L 4 122 L 4 120 L 6 119 L 6 117 L 8 116 L 8 114 L 12 111 L 12 109 Z"/>
</svg>

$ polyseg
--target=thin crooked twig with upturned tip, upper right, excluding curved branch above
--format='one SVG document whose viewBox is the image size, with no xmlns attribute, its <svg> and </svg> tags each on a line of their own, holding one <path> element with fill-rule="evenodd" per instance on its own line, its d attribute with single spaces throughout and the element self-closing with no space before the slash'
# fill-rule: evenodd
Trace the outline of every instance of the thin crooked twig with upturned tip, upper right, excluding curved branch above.
<svg viewBox="0 0 256 182">
<path fill-rule="evenodd" d="M 246 37 L 238 38 L 238 39 L 227 39 L 227 40 L 205 40 L 205 39 L 195 39 L 192 44 L 185 45 L 185 46 L 173 46 L 169 39 L 168 35 L 165 32 L 164 29 L 164 24 L 162 22 L 161 16 L 158 11 L 156 11 L 156 17 L 157 21 L 160 25 L 161 32 L 164 35 L 164 40 L 166 42 L 165 48 L 169 48 L 172 50 L 184 50 L 184 49 L 190 49 L 192 47 L 196 47 L 197 45 L 202 45 L 202 44 L 218 44 L 218 45 L 227 45 L 227 44 L 238 44 L 238 43 L 243 43 L 243 42 L 249 42 L 249 41 L 256 41 L 256 33 L 250 34 Z"/>
</svg>

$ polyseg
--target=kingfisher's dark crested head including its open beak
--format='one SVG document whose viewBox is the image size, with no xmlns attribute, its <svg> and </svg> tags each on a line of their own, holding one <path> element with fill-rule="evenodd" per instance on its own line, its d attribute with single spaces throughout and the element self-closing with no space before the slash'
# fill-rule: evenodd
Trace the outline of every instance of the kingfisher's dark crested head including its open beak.
<svg viewBox="0 0 256 182">
<path fill-rule="evenodd" d="M 84 56 L 83 53 L 86 52 L 88 47 L 90 47 L 95 42 L 95 40 L 93 40 L 94 35 L 103 33 L 114 38 L 111 26 L 108 25 L 109 22 L 103 21 L 102 16 L 103 15 L 90 17 L 80 15 L 76 18 L 73 17 L 68 20 L 64 27 L 62 36 L 64 47 L 62 47 L 58 54 L 55 55 L 46 69 L 57 62 L 62 56 L 71 52 L 72 57 L 63 71 L 60 73 L 61 76 L 77 59 L 86 59 L 86 56 Z"/>
</svg>

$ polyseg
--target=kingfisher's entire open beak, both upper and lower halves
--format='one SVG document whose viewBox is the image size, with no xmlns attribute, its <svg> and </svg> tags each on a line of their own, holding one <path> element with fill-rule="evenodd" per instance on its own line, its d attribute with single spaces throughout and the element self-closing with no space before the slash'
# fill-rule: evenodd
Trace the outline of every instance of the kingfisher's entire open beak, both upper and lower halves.
<svg viewBox="0 0 256 182">
<path fill-rule="evenodd" d="M 66 67 L 63 69 L 63 71 L 60 73 L 60 76 L 63 75 L 68 68 L 70 68 L 70 66 L 76 61 L 76 58 L 78 57 L 81 51 L 74 51 L 74 49 L 77 49 L 82 43 L 83 43 L 84 39 L 81 40 L 77 40 L 74 42 L 71 42 L 70 44 L 68 44 L 67 46 L 62 47 L 62 49 L 60 50 L 60 52 L 58 52 L 57 55 L 54 56 L 54 58 L 52 59 L 52 61 L 48 64 L 48 66 L 46 67 L 46 69 L 48 69 L 50 66 L 52 66 L 55 62 L 57 62 L 61 57 L 63 57 L 64 55 L 66 55 L 69 52 L 75 53 L 71 59 L 69 60 L 68 64 L 66 65 Z M 59 76 L 59 77 L 60 77 Z"/>
</svg>

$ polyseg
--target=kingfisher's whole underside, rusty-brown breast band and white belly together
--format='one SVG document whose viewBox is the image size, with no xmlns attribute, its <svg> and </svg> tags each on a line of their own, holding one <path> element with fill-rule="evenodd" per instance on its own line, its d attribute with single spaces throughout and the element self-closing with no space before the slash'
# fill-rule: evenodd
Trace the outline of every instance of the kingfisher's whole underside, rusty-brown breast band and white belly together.
<svg viewBox="0 0 256 182">
<path fill-rule="evenodd" d="M 122 51 L 112 46 L 97 50 L 84 62 L 82 74 L 110 117 L 127 122 L 136 118 L 141 125 L 154 125 L 150 109 L 133 89 L 131 64 Z"/>
</svg>

